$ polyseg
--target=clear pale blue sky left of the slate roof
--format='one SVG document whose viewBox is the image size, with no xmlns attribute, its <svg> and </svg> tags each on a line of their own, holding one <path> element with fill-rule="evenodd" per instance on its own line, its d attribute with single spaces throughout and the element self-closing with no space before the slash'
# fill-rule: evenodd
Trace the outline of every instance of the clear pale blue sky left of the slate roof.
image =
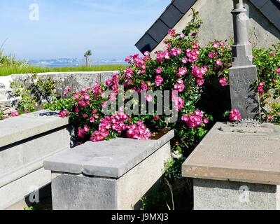
<svg viewBox="0 0 280 224">
<path fill-rule="evenodd" d="M 0 45 L 18 59 L 123 59 L 171 0 L 1 0 Z"/>
</svg>

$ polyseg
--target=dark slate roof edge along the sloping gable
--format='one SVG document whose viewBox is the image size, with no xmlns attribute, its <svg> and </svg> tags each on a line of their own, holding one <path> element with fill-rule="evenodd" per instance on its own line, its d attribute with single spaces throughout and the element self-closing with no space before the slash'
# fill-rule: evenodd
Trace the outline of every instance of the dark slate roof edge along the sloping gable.
<svg viewBox="0 0 280 224">
<path fill-rule="evenodd" d="M 165 8 L 165 11 L 160 15 L 153 25 L 146 31 L 135 46 L 144 53 L 146 50 L 152 51 L 155 47 L 167 36 L 167 27 L 172 29 L 183 16 L 193 7 L 197 0 L 172 0 Z M 259 0 L 249 0 L 265 15 L 269 22 L 280 30 L 280 0 L 266 0 L 260 3 Z M 172 22 L 169 23 L 171 18 Z M 168 21 L 168 22 L 167 22 Z M 169 24 L 167 24 L 169 23 Z M 163 28 L 162 28 L 163 27 Z M 162 30 L 160 30 L 160 28 Z M 146 41 L 149 40 L 149 41 Z"/>
</svg>

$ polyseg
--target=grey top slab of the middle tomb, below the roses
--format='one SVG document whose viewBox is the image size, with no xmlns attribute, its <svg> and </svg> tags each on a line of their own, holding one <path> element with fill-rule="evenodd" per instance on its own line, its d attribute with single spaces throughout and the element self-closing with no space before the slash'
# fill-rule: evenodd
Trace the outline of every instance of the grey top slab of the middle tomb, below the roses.
<svg viewBox="0 0 280 224">
<path fill-rule="evenodd" d="M 87 142 L 75 149 L 45 160 L 45 169 L 52 172 L 120 178 L 133 167 L 164 146 L 174 137 L 174 131 L 158 140 L 137 141 L 112 139 Z"/>
</svg>

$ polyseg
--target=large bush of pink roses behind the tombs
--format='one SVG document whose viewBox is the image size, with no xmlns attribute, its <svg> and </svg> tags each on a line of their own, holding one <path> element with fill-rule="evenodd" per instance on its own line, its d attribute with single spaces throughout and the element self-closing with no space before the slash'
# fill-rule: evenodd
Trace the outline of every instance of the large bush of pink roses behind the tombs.
<svg viewBox="0 0 280 224">
<path fill-rule="evenodd" d="M 97 82 L 93 87 L 80 92 L 71 92 L 68 88 L 65 92 L 69 94 L 68 99 L 59 99 L 46 108 L 58 109 L 61 111 L 59 116 L 62 117 L 70 113 L 71 120 L 78 125 L 78 137 L 81 141 L 102 141 L 122 134 L 134 139 L 148 139 L 152 131 L 170 127 L 176 131 L 174 150 L 188 154 L 204 137 L 213 121 L 221 120 L 221 116 L 217 114 L 222 115 L 225 111 L 232 110 L 226 113 L 228 117 L 225 120 L 241 120 L 239 111 L 223 104 L 221 99 L 227 94 L 218 92 L 218 95 L 211 97 L 218 89 L 229 92 L 228 69 L 232 66 L 232 42 L 213 41 L 202 47 L 197 41 L 200 25 L 201 20 L 194 13 L 193 20 L 180 34 L 169 30 L 170 38 L 165 40 L 165 50 L 155 52 L 155 55 L 145 52 L 144 57 L 131 55 L 125 59 L 130 66 L 105 83 Z M 255 89 L 261 94 L 262 104 L 265 104 L 269 90 L 275 90 L 274 98 L 280 94 L 279 49 L 279 45 L 275 45 L 273 50 L 253 50 L 260 79 L 255 83 Z M 135 90 L 139 94 L 149 90 L 178 92 L 169 97 L 170 106 L 175 107 L 179 119 L 176 123 L 165 123 L 169 116 L 159 116 L 157 111 L 153 114 L 128 116 L 125 108 L 118 109 L 116 114 L 105 116 L 102 109 L 114 100 L 120 101 L 120 85 L 124 86 L 124 92 Z M 211 89 L 213 86 L 216 88 Z M 108 90 L 112 94 L 104 97 L 104 92 Z M 145 98 L 147 103 L 157 104 L 157 97 L 146 93 Z M 225 98 L 225 101 L 230 102 L 230 99 Z M 263 109 L 263 117 L 277 123 L 279 113 L 275 111 L 269 114 Z M 214 118 L 209 114 L 213 114 Z"/>
</svg>

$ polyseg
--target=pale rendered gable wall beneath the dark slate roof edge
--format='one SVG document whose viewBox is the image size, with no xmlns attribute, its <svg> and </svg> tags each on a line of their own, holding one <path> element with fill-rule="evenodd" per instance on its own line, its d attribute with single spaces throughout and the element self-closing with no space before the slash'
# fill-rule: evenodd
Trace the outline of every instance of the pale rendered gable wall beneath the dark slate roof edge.
<svg viewBox="0 0 280 224">
<path fill-rule="evenodd" d="M 244 0 L 244 3 L 249 7 L 248 36 L 256 44 L 255 46 L 268 48 L 279 42 L 280 31 L 250 1 Z M 193 8 L 200 12 L 199 17 L 203 22 L 199 35 L 202 45 L 206 45 L 214 39 L 225 40 L 233 37 L 232 0 L 198 0 Z M 174 29 L 182 31 L 192 18 L 192 10 L 189 10 Z M 162 50 L 164 46 L 162 41 L 153 52 Z"/>
</svg>

